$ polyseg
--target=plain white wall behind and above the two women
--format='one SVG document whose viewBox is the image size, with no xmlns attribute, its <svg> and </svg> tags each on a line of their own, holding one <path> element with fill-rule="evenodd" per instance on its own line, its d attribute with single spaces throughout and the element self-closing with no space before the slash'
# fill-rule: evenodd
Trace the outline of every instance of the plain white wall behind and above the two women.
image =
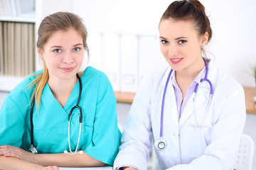
<svg viewBox="0 0 256 170">
<path fill-rule="evenodd" d="M 256 1 L 201 0 L 213 28 L 208 57 L 243 86 L 255 86 L 250 66 L 256 64 Z M 158 36 L 159 19 L 167 0 L 74 0 L 90 32 L 134 33 Z M 93 58 L 94 56 L 91 56 Z M 156 56 L 159 57 L 159 56 Z M 146 61 L 144 61 L 146 62 Z"/>
</svg>

